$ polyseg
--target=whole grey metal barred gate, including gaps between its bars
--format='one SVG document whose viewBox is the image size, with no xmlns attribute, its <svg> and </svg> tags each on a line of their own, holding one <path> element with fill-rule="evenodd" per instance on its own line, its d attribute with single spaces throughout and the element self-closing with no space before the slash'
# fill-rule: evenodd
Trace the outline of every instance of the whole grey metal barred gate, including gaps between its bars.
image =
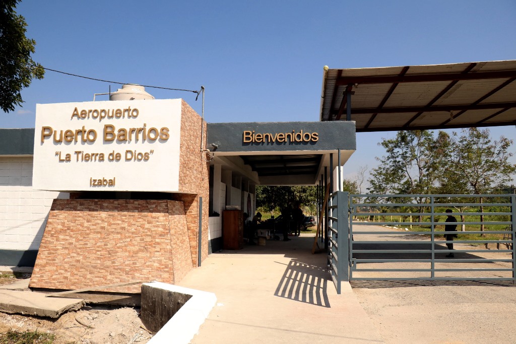
<svg viewBox="0 0 516 344">
<path fill-rule="evenodd" d="M 353 280 L 516 280 L 514 194 L 337 191 L 328 207 L 329 268 L 338 293 L 341 281 Z M 446 209 L 457 219 L 453 240 L 444 237 Z"/>
</svg>

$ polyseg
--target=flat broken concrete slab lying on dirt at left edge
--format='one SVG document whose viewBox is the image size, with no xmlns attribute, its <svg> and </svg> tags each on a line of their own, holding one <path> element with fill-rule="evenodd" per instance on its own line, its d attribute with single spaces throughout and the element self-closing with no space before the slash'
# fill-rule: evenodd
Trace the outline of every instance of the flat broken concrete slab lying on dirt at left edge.
<svg viewBox="0 0 516 344">
<path fill-rule="evenodd" d="M 0 290 L 0 311 L 58 318 L 69 310 L 85 305 L 84 300 L 45 298 L 45 294 L 32 291 Z"/>
</svg>

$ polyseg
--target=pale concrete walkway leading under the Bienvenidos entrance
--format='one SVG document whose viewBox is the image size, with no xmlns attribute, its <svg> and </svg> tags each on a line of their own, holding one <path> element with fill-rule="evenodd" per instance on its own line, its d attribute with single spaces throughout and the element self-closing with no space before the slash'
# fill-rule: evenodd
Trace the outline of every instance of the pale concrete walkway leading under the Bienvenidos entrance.
<svg viewBox="0 0 516 344">
<path fill-rule="evenodd" d="M 179 285 L 218 304 L 192 343 L 383 343 L 349 284 L 336 294 L 313 234 L 209 255 Z"/>
</svg>

